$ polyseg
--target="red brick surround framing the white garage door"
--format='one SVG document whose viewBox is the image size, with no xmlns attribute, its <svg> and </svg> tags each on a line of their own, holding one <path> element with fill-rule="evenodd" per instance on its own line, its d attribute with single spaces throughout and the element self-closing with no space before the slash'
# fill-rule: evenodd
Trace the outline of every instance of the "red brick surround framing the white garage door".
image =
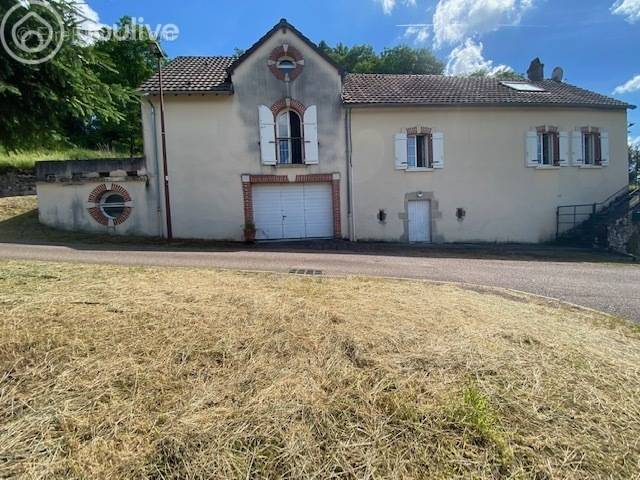
<svg viewBox="0 0 640 480">
<path fill-rule="evenodd" d="M 340 209 L 340 174 L 297 175 L 290 181 L 287 175 L 243 175 L 242 193 L 244 201 L 245 224 L 254 224 L 254 185 L 296 185 L 326 183 L 331 186 L 331 203 L 333 213 L 333 237 L 342 238 L 342 216 Z"/>
</svg>

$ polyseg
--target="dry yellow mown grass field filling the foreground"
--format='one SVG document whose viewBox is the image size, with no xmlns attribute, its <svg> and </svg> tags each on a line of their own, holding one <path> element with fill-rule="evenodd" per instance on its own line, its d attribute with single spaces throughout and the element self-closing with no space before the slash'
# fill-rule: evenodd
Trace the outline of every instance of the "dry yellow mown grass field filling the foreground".
<svg viewBox="0 0 640 480">
<path fill-rule="evenodd" d="M 0 477 L 632 478 L 640 330 L 450 285 L 0 261 Z"/>
</svg>

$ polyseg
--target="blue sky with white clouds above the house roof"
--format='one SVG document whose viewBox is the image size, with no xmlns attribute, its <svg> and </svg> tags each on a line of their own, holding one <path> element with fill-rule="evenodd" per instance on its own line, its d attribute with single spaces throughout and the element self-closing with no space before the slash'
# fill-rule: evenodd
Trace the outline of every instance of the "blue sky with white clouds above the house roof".
<svg viewBox="0 0 640 480">
<path fill-rule="evenodd" d="M 316 42 L 429 47 L 449 73 L 524 72 L 539 56 L 547 75 L 559 65 L 566 81 L 640 106 L 640 0 L 87 2 L 103 24 L 130 15 L 152 27 L 177 25 L 178 38 L 163 44 L 170 56 L 232 54 L 286 17 Z M 629 121 L 640 142 L 640 112 Z"/>
</svg>

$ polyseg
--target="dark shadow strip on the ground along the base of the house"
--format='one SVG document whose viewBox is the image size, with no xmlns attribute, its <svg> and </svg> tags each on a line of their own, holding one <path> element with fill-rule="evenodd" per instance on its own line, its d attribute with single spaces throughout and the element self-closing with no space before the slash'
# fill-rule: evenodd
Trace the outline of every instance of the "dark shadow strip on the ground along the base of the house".
<svg viewBox="0 0 640 480">
<path fill-rule="evenodd" d="M 46 227 L 38 221 L 38 211 L 0 220 L 0 243 L 65 246 L 75 250 L 163 251 L 163 252 L 273 252 L 329 253 L 390 257 L 456 258 L 537 262 L 633 263 L 623 255 L 586 248 L 527 244 L 447 244 L 406 245 L 380 242 L 351 243 L 343 240 L 258 243 L 175 240 L 122 237 L 67 232 Z"/>
</svg>

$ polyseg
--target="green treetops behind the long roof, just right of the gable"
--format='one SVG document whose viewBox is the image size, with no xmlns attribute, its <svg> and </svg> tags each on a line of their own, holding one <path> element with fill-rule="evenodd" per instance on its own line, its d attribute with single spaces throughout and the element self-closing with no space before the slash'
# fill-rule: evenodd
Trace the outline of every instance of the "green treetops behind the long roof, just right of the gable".
<svg viewBox="0 0 640 480">
<path fill-rule="evenodd" d="M 444 64 L 426 48 L 399 45 L 377 54 L 370 45 L 331 47 L 324 41 L 319 48 L 349 73 L 441 74 L 444 70 Z"/>
</svg>

